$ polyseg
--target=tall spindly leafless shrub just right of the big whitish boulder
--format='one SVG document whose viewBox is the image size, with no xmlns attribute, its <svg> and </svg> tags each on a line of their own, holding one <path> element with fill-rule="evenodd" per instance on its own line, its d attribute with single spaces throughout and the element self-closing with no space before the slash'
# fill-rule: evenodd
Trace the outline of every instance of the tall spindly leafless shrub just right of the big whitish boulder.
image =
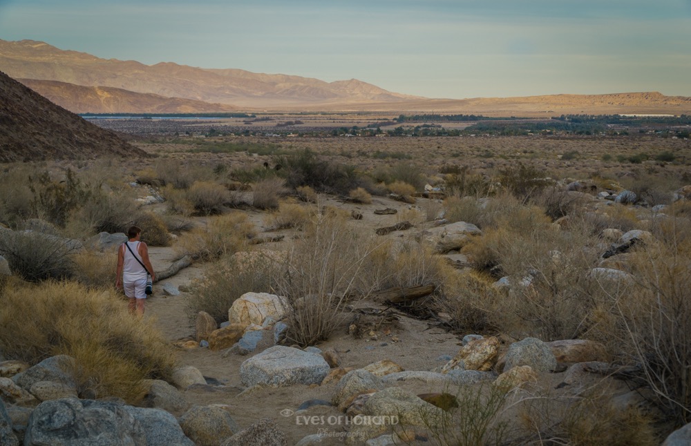
<svg viewBox="0 0 691 446">
<path fill-rule="evenodd" d="M 375 243 L 348 220 L 317 215 L 288 251 L 278 294 L 290 302 L 287 338 L 299 345 L 327 339 L 342 322 L 350 296 L 363 295 L 361 274 Z M 348 259 L 344 262 L 343 259 Z"/>
</svg>

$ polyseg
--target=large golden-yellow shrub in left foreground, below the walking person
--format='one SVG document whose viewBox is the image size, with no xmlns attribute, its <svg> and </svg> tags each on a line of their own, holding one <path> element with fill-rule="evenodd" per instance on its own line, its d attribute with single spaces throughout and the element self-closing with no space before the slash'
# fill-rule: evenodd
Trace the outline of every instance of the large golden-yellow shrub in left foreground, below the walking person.
<svg viewBox="0 0 691 446">
<path fill-rule="evenodd" d="M 80 398 L 117 396 L 135 403 L 143 379 L 167 379 L 175 366 L 154 324 L 131 316 L 114 293 L 75 282 L 15 282 L 0 300 L 3 353 L 30 364 L 72 356 Z"/>
</svg>

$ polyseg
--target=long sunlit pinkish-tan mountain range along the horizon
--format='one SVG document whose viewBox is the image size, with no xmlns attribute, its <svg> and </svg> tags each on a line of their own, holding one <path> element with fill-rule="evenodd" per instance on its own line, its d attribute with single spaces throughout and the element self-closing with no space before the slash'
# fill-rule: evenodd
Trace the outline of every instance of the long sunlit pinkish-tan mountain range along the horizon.
<svg viewBox="0 0 691 446">
<path fill-rule="evenodd" d="M 239 69 L 100 59 L 41 41 L 0 40 L 0 70 L 75 113 L 383 111 L 541 116 L 691 113 L 691 98 L 657 92 L 429 99 L 357 79 L 326 82 Z"/>
</svg>

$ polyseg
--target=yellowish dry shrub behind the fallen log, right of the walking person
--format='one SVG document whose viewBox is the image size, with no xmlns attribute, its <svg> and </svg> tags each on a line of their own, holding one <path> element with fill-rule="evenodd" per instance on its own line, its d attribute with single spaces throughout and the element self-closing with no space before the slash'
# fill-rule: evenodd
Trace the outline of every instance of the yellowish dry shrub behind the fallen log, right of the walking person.
<svg viewBox="0 0 691 446">
<path fill-rule="evenodd" d="M 248 237 L 255 235 L 247 214 L 233 212 L 209 217 L 204 228 L 196 228 L 180 237 L 182 253 L 193 259 L 209 261 L 243 251 Z"/>
</svg>

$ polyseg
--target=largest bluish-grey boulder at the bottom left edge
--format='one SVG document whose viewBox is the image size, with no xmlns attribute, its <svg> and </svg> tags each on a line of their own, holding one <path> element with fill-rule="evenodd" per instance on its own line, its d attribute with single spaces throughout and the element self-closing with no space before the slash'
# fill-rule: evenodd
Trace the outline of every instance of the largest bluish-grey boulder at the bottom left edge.
<svg viewBox="0 0 691 446">
<path fill-rule="evenodd" d="M 39 404 L 32 412 L 24 434 L 24 445 L 27 446 L 146 444 L 144 428 L 124 405 L 77 398 Z"/>
</svg>

